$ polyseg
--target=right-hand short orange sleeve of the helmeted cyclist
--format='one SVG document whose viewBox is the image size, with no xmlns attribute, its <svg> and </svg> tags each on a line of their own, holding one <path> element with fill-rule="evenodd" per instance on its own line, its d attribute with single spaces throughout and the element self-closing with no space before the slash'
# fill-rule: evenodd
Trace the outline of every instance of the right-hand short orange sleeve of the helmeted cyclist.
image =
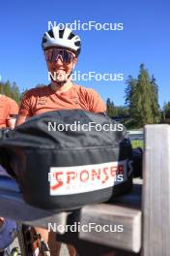
<svg viewBox="0 0 170 256">
<path fill-rule="evenodd" d="M 88 89 L 89 111 L 106 112 L 106 105 L 94 89 Z"/>
</svg>

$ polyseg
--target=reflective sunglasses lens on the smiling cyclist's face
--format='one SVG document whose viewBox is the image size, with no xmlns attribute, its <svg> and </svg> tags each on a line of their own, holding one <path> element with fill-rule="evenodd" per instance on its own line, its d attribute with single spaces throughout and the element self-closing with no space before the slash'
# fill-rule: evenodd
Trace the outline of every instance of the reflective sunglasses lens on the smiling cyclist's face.
<svg viewBox="0 0 170 256">
<path fill-rule="evenodd" d="M 59 56 L 65 63 L 71 63 L 73 59 L 73 54 L 66 49 L 50 48 L 45 50 L 46 61 L 55 62 Z"/>
</svg>

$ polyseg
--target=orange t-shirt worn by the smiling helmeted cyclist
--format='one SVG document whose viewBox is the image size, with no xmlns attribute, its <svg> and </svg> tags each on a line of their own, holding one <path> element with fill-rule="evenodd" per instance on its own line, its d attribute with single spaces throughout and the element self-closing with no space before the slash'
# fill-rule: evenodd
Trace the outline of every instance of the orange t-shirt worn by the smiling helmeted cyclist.
<svg viewBox="0 0 170 256">
<path fill-rule="evenodd" d="M 27 91 L 22 99 L 19 114 L 34 116 L 43 112 L 59 110 L 85 110 L 106 112 L 106 106 L 94 89 L 72 84 L 68 91 L 61 94 L 49 85 Z"/>
</svg>

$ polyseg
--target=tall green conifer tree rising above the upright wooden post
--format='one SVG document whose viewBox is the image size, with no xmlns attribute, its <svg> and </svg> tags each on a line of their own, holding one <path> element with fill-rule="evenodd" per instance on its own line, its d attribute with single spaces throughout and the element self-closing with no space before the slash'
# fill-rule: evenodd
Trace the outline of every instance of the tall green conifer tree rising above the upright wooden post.
<svg viewBox="0 0 170 256">
<path fill-rule="evenodd" d="M 158 86 L 154 76 L 152 80 L 144 64 L 140 65 L 138 79 L 128 77 L 126 88 L 126 106 L 136 127 L 158 123 L 160 112 L 158 106 Z"/>
</svg>

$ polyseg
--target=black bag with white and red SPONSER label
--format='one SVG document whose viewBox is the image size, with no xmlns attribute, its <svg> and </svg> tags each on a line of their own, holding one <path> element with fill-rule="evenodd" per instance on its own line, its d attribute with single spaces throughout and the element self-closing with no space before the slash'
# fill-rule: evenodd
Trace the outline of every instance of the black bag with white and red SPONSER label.
<svg viewBox="0 0 170 256">
<path fill-rule="evenodd" d="M 0 149 L 11 156 L 25 201 L 38 208 L 79 208 L 131 188 L 127 131 L 102 114 L 43 113 L 10 131 Z"/>
</svg>

